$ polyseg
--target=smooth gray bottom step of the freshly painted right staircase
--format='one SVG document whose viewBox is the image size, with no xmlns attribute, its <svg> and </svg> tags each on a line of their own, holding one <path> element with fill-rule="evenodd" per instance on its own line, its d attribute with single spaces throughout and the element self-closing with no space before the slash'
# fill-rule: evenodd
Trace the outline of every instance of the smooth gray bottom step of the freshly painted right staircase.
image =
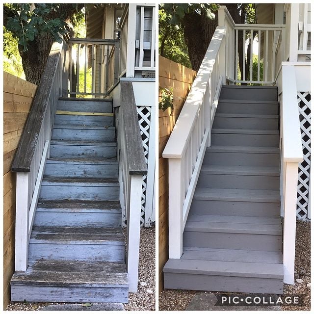
<svg viewBox="0 0 314 314">
<path fill-rule="evenodd" d="M 164 287 L 245 293 L 283 293 L 283 264 L 170 259 Z"/>
</svg>

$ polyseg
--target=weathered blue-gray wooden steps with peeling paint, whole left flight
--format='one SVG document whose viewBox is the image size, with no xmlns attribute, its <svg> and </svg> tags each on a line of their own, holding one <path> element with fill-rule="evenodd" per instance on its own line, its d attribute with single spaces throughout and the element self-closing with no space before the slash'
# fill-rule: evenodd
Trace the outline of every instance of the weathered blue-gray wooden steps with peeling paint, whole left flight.
<svg viewBox="0 0 314 314">
<path fill-rule="evenodd" d="M 59 100 L 12 301 L 128 302 L 112 102 Z"/>
</svg>

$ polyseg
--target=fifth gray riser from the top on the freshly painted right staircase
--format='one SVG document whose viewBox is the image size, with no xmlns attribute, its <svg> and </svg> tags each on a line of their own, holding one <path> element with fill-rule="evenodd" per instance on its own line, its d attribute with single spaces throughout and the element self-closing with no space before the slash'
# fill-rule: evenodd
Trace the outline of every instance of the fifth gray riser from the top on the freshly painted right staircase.
<svg viewBox="0 0 314 314">
<path fill-rule="evenodd" d="M 279 167 L 279 154 L 206 152 L 204 164 Z"/>
</svg>

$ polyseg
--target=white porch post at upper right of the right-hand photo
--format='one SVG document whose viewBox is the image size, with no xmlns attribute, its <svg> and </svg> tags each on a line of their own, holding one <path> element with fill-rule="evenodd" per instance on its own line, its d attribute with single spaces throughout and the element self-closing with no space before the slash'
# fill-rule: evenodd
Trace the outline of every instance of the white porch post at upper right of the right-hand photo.
<svg viewBox="0 0 314 314">
<path fill-rule="evenodd" d="M 290 5 L 290 41 L 289 61 L 298 61 L 298 40 L 299 40 L 299 3 Z"/>
</svg>

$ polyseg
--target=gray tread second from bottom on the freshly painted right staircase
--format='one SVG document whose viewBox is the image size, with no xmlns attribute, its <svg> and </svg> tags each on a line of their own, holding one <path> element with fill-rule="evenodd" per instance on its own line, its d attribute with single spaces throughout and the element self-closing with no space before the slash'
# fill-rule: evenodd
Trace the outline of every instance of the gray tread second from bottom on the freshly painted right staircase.
<svg viewBox="0 0 314 314">
<path fill-rule="evenodd" d="M 184 232 L 281 235 L 280 218 L 190 214 Z"/>
</svg>

